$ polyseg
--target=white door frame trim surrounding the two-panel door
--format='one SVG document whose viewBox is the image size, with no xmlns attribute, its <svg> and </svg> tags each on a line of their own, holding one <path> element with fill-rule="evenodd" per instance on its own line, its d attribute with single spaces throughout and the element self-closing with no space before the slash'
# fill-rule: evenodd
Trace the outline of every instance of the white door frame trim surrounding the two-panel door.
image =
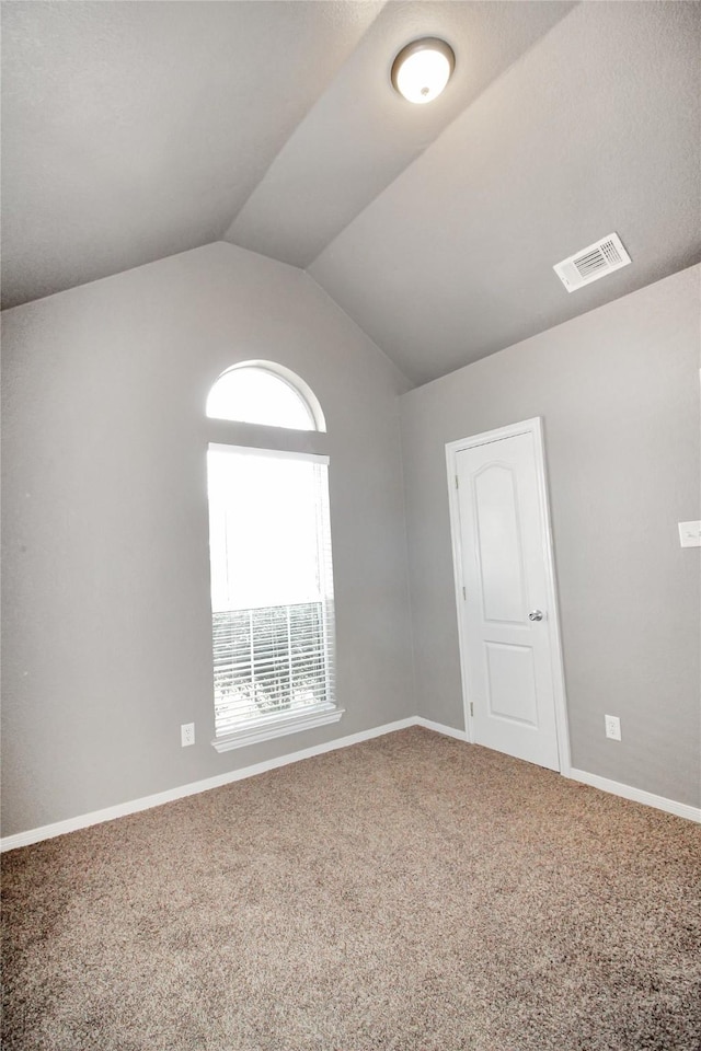
<svg viewBox="0 0 701 1051">
<path fill-rule="evenodd" d="M 558 736 L 558 755 L 560 773 L 571 776 L 572 760 L 570 754 L 570 732 L 567 726 L 567 703 L 565 694 L 564 662 L 562 657 L 562 642 L 560 637 L 560 612 L 558 608 L 558 587 L 553 556 L 552 526 L 550 521 L 550 501 L 548 498 L 548 477 L 545 471 L 545 444 L 543 440 L 543 421 L 541 416 L 525 419 L 518 424 L 497 427 L 495 430 L 471 435 L 457 441 L 446 442 L 446 466 L 448 471 L 448 505 L 450 512 L 450 536 L 452 542 L 452 570 L 456 588 L 456 607 L 458 610 L 458 642 L 460 647 L 460 677 L 462 681 L 462 704 L 464 711 L 464 728 L 468 741 L 474 743 L 474 725 L 470 715 L 470 697 L 468 693 L 468 654 L 467 625 L 462 589 L 462 539 L 460 535 L 460 509 L 458 505 L 458 463 L 457 454 L 464 449 L 476 446 L 491 444 L 503 438 L 515 438 L 517 435 L 530 435 L 533 442 L 536 459 L 536 481 L 538 486 L 538 504 L 543 522 L 543 561 L 545 565 L 545 593 L 548 598 L 548 636 L 550 644 L 550 666 L 552 673 L 553 701 L 555 707 L 555 728 Z"/>
</svg>

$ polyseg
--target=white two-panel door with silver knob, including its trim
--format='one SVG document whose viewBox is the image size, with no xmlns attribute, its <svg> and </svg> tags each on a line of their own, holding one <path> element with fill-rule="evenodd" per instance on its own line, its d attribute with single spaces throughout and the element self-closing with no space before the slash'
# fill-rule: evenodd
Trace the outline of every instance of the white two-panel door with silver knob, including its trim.
<svg viewBox="0 0 701 1051">
<path fill-rule="evenodd" d="M 456 580 L 472 740 L 560 770 L 551 652 L 555 645 L 560 657 L 559 635 L 539 423 L 452 443 Z"/>
</svg>

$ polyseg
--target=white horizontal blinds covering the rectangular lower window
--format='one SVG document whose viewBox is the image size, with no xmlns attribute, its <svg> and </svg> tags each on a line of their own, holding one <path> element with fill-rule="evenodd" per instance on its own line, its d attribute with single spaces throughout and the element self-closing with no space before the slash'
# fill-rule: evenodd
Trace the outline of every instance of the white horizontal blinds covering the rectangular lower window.
<svg viewBox="0 0 701 1051">
<path fill-rule="evenodd" d="M 327 459 L 210 446 L 217 737 L 333 707 Z"/>
</svg>

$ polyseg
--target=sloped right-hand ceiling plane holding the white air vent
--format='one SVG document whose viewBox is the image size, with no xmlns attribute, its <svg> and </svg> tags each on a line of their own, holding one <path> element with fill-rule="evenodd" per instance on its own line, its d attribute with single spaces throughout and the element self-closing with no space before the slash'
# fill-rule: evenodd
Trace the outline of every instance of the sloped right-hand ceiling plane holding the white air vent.
<svg viewBox="0 0 701 1051">
<path fill-rule="evenodd" d="M 578 5 L 312 276 L 421 383 L 698 262 L 700 13 Z M 612 231 L 632 265 L 568 293 L 553 264 Z"/>
</svg>

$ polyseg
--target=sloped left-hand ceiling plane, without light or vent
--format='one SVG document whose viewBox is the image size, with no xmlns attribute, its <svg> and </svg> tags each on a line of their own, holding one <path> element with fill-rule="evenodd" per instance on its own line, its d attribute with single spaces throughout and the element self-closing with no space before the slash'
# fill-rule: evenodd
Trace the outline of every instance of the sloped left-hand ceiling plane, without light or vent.
<svg viewBox="0 0 701 1051">
<path fill-rule="evenodd" d="M 3 305 L 219 240 L 381 8 L 3 3 Z"/>
</svg>

